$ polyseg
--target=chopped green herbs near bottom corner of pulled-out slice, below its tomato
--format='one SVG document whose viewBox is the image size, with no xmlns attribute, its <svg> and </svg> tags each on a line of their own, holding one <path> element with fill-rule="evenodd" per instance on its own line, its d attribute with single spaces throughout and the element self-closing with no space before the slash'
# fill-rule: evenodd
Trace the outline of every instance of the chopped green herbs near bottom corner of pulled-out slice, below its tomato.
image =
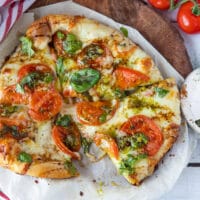
<svg viewBox="0 0 200 200">
<path fill-rule="evenodd" d="M 128 154 L 126 158 L 122 159 L 119 167 L 119 172 L 133 174 L 135 172 L 135 165 L 142 159 L 147 158 L 146 154 L 132 155 Z"/>
</svg>

